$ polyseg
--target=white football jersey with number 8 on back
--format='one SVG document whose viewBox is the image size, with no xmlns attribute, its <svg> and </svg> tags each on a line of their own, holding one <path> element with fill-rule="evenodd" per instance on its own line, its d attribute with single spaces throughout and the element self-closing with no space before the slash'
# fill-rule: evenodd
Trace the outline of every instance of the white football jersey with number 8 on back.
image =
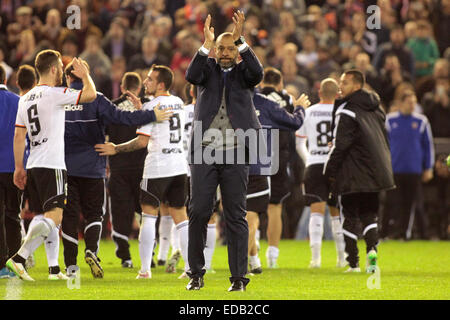
<svg viewBox="0 0 450 320">
<path fill-rule="evenodd" d="M 296 132 L 297 143 L 305 138 L 308 141 L 306 166 L 325 163 L 327 160 L 330 152 L 328 142 L 332 138 L 332 113 L 332 104 L 318 103 L 306 109 L 303 125 Z"/>
</svg>

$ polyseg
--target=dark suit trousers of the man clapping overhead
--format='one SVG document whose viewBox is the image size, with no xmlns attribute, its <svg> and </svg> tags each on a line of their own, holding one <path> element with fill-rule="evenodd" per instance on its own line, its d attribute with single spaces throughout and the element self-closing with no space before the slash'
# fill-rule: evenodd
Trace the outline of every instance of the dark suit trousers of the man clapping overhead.
<svg viewBox="0 0 450 320">
<path fill-rule="evenodd" d="M 248 165 L 245 164 L 194 164 L 191 165 L 191 200 L 189 205 L 188 257 L 190 277 L 205 273 L 203 249 L 206 229 L 213 213 L 217 186 L 220 186 L 228 245 L 230 281 L 245 278 L 248 264 L 248 224 L 246 194 Z"/>
</svg>

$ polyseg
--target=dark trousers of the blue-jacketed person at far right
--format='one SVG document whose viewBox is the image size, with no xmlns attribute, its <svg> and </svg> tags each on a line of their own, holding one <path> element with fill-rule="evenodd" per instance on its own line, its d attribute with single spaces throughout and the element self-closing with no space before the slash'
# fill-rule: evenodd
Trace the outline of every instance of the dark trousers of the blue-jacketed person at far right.
<svg viewBox="0 0 450 320">
<path fill-rule="evenodd" d="M 419 174 L 394 174 L 396 188 L 388 191 L 386 195 L 385 214 L 381 221 L 382 237 L 408 238 L 414 202 L 419 213 L 423 212 L 420 211 L 421 202 L 418 201 L 419 192 L 422 191 L 420 179 Z"/>
</svg>

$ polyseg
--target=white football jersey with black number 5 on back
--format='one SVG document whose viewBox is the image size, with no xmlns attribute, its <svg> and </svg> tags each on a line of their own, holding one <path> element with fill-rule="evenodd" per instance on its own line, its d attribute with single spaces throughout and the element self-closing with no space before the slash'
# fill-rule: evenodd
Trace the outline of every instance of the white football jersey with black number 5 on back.
<svg viewBox="0 0 450 320">
<path fill-rule="evenodd" d="M 66 169 L 64 128 L 67 104 L 78 104 L 81 90 L 39 85 L 19 100 L 16 126 L 27 129 L 30 156 L 27 169 Z"/>
</svg>

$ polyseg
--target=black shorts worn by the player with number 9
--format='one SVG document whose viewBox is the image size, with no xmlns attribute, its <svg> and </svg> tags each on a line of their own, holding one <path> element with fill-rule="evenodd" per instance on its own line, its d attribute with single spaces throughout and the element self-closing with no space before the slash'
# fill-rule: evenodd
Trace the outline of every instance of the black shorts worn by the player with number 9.
<svg viewBox="0 0 450 320">
<path fill-rule="evenodd" d="M 141 203 L 159 207 L 160 203 L 167 203 L 169 207 L 181 208 L 186 205 L 187 175 L 173 177 L 142 179 Z"/>
</svg>

